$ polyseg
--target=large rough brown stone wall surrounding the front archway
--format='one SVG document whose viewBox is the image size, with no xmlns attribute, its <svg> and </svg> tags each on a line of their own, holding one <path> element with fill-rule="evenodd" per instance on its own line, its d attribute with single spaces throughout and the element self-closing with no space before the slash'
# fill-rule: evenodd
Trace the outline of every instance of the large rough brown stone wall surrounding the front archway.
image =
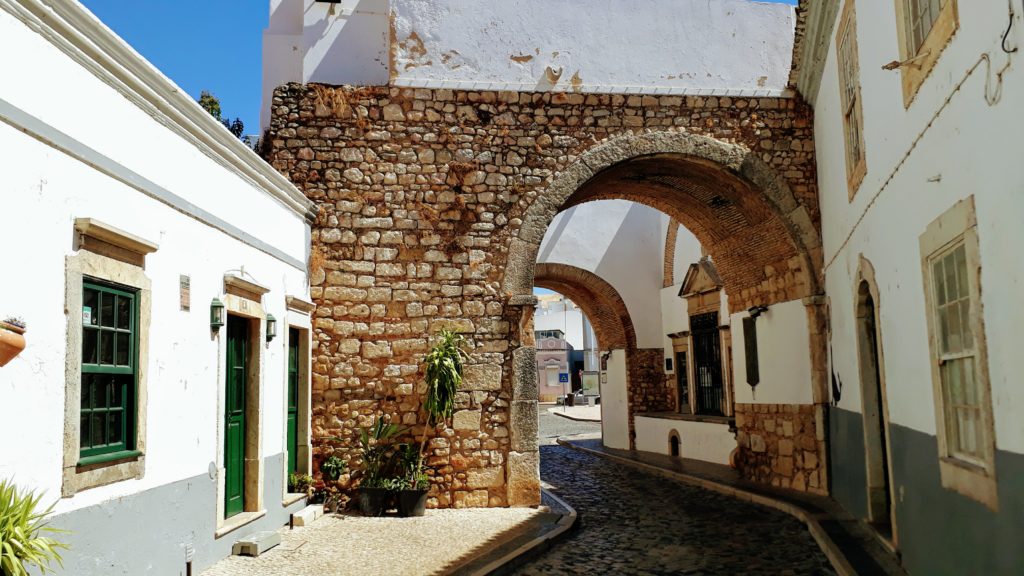
<svg viewBox="0 0 1024 576">
<path fill-rule="evenodd" d="M 642 130 L 738 143 L 818 219 L 810 110 L 799 100 L 289 84 L 272 107 L 263 154 L 321 207 L 310 258 L 317 462 L 333 449 L 357 466 L 357 428 L 382 414 L 418 435 L 430 335 L 446 327 L 469 340 L 455 419 L 430 443 L 433 506 L 537 501 L 536 382 L 511 378 L 514 356 L 536 372 L 532 307 L 501 286 L 520 217 L 582 152 Z M 792 259 L 784 241 L 746 232 L 758 253 Z M 737 306 L 780 293 L 764 261 L 750 268 Z"/>
</svg>

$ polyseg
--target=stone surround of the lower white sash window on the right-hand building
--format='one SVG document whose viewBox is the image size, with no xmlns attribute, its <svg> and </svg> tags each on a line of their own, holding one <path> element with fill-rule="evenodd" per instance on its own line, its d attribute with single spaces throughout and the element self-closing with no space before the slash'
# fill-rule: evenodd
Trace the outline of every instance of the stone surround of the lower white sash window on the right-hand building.
<svg viewBox="0 0 1024 576">
<path fill-rule="evenodd" d="M 992 395 L 988 379 L 988 351 L 985 338 L 983 302 L 981 299 L 981 261 L 978 250 L 978 220 L 974 196 L 968 196 L 943 212 L 921 235 L 921 264 L 925 290 L 925 315 L 928 322 L 929 363 L 931 365 L 933 397 L 935 402 L 935 431 L 939 446 L 939 471 L 943 488 L 953 490 L 977 500 L 993 511 L 998 511 L 999 501 L 995 476 L 995 424 L 992 414 Z M 953 457 L 946 439 L 945 401 L 939 370 L 938 327 L 934 310 L 931 264 L 934 256 L 955 244 L 967 247 L 968 285 L 971 292 L 971 330 L 977 346 L 976 379 L 981 396 L 983 463 L 966 462 Z"/>
</svg>

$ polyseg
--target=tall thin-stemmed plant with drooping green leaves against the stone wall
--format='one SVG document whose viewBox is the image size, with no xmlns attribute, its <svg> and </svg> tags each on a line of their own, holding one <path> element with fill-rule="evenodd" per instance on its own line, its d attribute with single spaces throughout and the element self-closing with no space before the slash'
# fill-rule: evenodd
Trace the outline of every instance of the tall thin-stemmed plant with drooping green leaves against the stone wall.
<svg viewBox="0 0 1024 576">
<path fill-rule="evenodd" d="M 419 483 L 422 475 L 428 429 L 447 422 L 455 413 L 455 397 L 462 385 L 463 360 L 466 358 L 466 353 L 462 351 L 463 342 L 465 338 L 462 334 L 441 330 L 439 339 L 423 359 L 427 372 L 427 393 L 423 400 L 427 425 L 423 427 L 423 436 L 420 438 L 415 471 L 410 474 L 410 479 L 416 483 Z"/>
</svg>

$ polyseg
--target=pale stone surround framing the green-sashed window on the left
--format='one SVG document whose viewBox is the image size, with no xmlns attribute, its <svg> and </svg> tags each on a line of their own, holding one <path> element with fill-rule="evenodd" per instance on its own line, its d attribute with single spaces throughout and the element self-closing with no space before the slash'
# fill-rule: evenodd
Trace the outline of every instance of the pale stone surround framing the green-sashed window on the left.
<svg viewBox="0 0 1024 576">
<path fill-rule="evenodd" d="M 89 488 L 137 480 L 145 475 L 150 324 L 153 283 L 145 255 L 157 245 L 92 218 L 75 220 L 75 254 L 65 259 L 65 311 L 68 322 L 65 363 L 65 434 L 60 495 L 70 498 Z M 79 466 L 82 403 L 82 296 L 85 278 L 137 290 L 138 355 L 135 388 L 135 446 L 138 456 Z"/>
</svg>

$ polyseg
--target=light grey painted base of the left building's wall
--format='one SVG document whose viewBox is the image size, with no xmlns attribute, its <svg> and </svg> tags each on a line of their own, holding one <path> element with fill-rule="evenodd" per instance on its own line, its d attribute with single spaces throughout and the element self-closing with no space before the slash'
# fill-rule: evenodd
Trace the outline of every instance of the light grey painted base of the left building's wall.
<svg viewBox="0 0 1024 576">
<path fill-rule="evenodd" d="M 199 574 L 231 553 L 231 544 L 253 532 L 278 530 L 289 515 L 304 504 L 282 506 L 284 454 L 263 459 L 263 502 L 266 516 L 214 539 L 217 516 L 217 481 L 202 475 L 95 506 L 71 511 L 52 520 L 70 530 L 61 540 L 71 545 L 63 553 L 63 574 L 75 576 L 184 576 L 185 544 L 195 549 L 193 574 Z"/>
</svg>

